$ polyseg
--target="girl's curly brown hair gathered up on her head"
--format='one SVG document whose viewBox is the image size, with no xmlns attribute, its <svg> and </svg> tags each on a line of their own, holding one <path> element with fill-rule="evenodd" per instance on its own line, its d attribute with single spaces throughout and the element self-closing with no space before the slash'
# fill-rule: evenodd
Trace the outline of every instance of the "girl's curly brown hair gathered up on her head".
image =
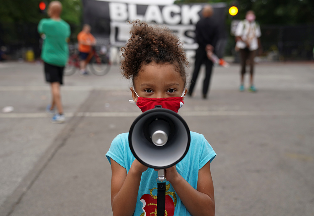
<svg viewBox="0 0 314 216">
<path fill-rule="evenodd" d="M 132 77 L 134 84 L 134 78 L 143 65 L 151 62 L 169 63 L 176 65 L 177 71 L 186 84 L 185 66 L 188 67 L 188 61 L 179 38 L 165 26 L 152 27 L 140 20 L 129 21 L 129 23 L 133 26 L 126 47 L 121 48 L 124 57 L 121 61 L 121 74 L 127 79 Z"/>
</svg>

